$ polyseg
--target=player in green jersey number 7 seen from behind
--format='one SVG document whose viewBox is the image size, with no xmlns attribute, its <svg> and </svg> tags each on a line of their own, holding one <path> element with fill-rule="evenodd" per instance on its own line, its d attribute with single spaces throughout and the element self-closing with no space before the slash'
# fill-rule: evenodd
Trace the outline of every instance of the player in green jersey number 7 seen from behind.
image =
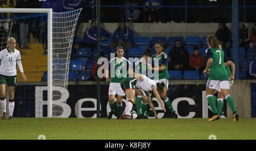
<svg viewBox="0 0 256 151">
<path fill-rule="evenodd" d="M 217 37 L 213 35 L 207 37 L 207 44 L 209 46 L 206 50 L 208 62 L 204 74 L 207 74 L 210 70 L 206 95 L 208 104 L 213 111 L 213 117 L 210 118 L 209 121 L 214 121 L 220 118 L 216 107 L 216 97 L 212 95 L 214 90 L 218 89 L 218 87 L 221 89 L 222 95 L 225 97 L 230 109 L 233 111 L 233 121 L 238 121 L 239 116 L 236 111 L 234 100 L 229 95 L 229 76 L 225 68 L 224 51 L 221 50 Z"/>
</svg>

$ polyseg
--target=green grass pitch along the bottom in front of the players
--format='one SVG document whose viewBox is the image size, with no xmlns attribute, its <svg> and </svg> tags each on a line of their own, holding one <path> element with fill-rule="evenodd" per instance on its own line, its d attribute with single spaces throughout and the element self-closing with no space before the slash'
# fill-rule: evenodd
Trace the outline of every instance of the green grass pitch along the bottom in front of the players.
<svg viewBox="0 0 256 151">
<path fill-rule="evenodd" d="M 231 118 L 208 122 L 208 119 L 82 119 L 82 118 L 14 118 L 0 119 L 0 139 L 96 140 L 170 140 L 256 139 L 256 118 Z"/>
</svg>

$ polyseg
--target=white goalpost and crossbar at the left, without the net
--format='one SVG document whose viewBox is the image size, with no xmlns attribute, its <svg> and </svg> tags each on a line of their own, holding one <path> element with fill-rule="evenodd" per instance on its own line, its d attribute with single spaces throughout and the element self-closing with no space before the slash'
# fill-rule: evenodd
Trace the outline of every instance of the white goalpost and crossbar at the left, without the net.
<svg viewBox="0 0 256 151">
<path fill-rule="evenodd" d="M 48 48 L 48 79 L 47 79 L 47 117 L 52 117 L 52 8 L 0 8 L 0 13 L 47 13 L 47 48 Z"/>
</svg>

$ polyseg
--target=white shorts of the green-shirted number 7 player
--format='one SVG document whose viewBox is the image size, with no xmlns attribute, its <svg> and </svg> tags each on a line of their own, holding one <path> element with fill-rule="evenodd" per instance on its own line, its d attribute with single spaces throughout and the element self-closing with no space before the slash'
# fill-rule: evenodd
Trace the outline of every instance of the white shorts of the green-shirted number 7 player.
<svg viewBox="0 0 256 151">
<path fill-rule="evenodd" d="M 207 81 L 207 87 L 210 89 L 229 89 L 229 81 L 220 81 L 220 80 L 209 80 Z"/>
</svg>

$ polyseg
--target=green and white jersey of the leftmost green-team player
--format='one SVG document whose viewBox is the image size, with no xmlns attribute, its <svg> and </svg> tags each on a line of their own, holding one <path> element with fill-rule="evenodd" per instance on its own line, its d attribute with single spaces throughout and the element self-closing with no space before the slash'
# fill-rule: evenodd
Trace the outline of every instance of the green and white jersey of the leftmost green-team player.
<svg viewBox="0 0 256 151">
<path fill-rule="evenodd" d="M 128 77 L 131 63 L 124 57 L 121 62 L 118 62 L 117 57 L 115 57 L 109 61 L 109 67 L 110 83 L 120 83 L 123 79 Z"/>
</svg>

